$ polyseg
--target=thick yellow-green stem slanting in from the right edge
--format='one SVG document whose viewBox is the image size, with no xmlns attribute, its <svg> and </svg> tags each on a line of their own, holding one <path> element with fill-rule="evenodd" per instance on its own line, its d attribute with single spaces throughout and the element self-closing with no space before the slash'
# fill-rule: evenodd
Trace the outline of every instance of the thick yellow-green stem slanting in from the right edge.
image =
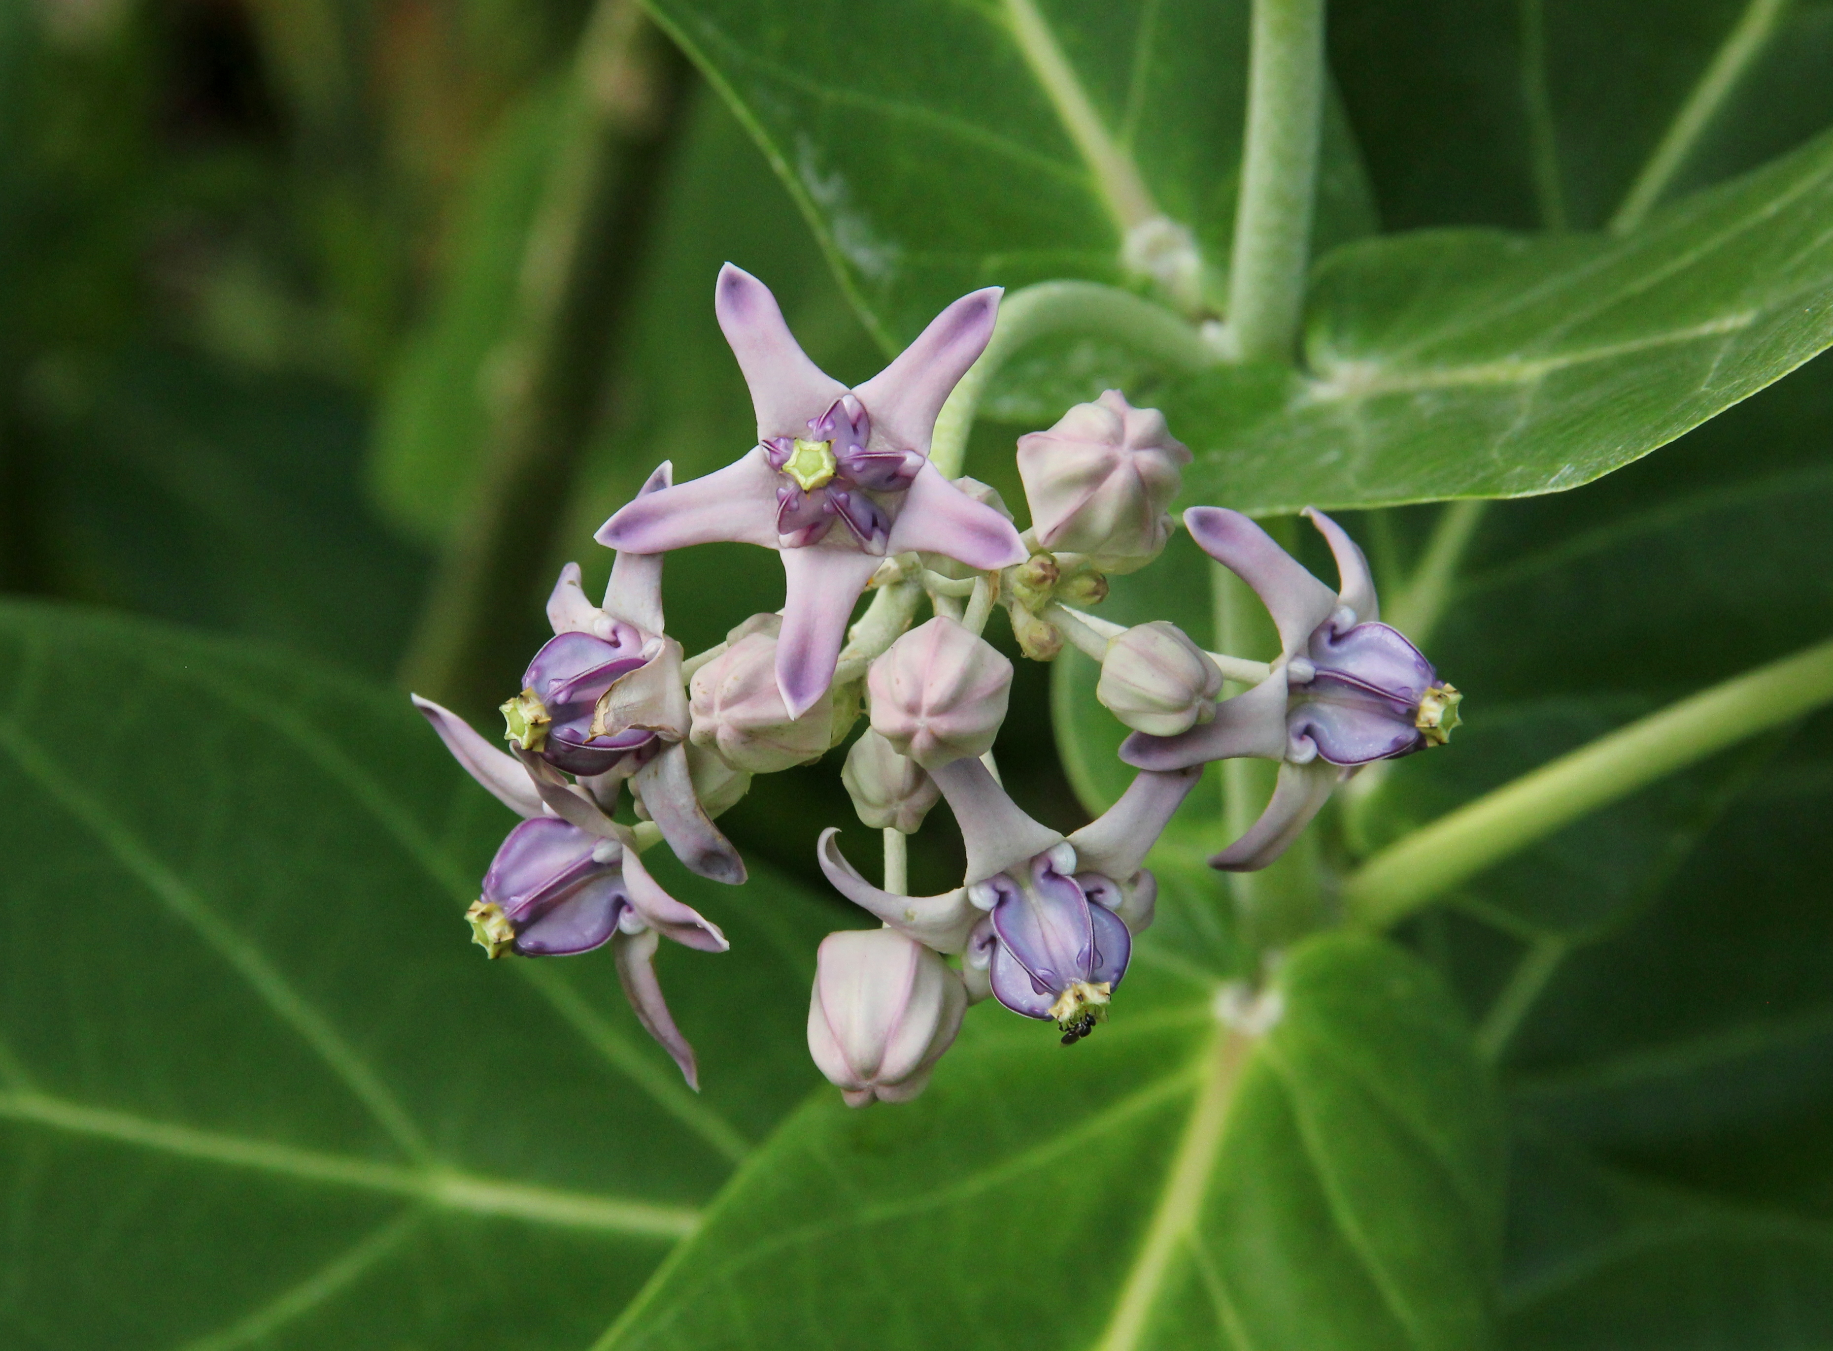
<svg viewBox="0 0 1833 1351">
<path fill-rule="evenodd" d="M 1829 702 L 1833 642 L 1683 698 L 1466 803 L 1375 854 L 1344 884 L 1344 902 L 1362 924 L 1388 928 L 1637 788 Z"/>
</svg>

